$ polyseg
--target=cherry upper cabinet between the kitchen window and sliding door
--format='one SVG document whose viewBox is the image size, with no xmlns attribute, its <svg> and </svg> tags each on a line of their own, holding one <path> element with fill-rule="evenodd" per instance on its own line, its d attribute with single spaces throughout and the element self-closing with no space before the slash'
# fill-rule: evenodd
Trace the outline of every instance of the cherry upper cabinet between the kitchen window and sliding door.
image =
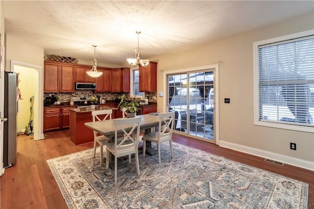
<svg viewBox="0 0 314 209">
<path fill-rule="evenodd" d="M 146 68 L 139 65 L 139 91 L 157 92 L 157 62 L 149 62 Z"/>
</svg>

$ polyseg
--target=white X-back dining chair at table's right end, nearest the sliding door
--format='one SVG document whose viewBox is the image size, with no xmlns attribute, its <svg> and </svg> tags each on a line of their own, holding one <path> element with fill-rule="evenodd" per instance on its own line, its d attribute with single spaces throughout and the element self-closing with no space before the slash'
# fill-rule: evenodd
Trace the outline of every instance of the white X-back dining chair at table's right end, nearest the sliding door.
<svg viewBox="0 0 314 209">
<path fill-rule="evenodd" d="M 172 152 L 172 131 L 174 127 L 175 120 L 175 112 L 164 112 L 159 113 L 159 127 L 158 131 L 144 134 L 143 136 L 143 156 L 145 156 L 146 152 L 146 140 L 157 143 L 157 151 L 158 151 L 158 161 L 160 164 L 160 144 L 164 142 L 169 142 L 170 146 L 170 155 L 173 157 Z M 170 118 L 170 120 L 169 120 Z M 164 128 L 162 127 L 164 125 Z"/>
</svg>

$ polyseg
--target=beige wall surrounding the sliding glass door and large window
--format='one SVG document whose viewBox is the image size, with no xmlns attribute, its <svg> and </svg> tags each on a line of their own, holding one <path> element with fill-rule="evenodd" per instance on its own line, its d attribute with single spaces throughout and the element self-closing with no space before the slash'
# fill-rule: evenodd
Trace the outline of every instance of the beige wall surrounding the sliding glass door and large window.
<svg viewBox="0 0 314 209">
<path fill-rule="evenodd" d="M 163 91 L 161 70 L 173 71 L 219 64 L 220 145 L 314 169 L 314 134 L 253 125 L 253 42 L 314 28 L 313 15 L 266 26 L 208 44 L 149 57 L 158 60 L 157 92 Z M 164 92 L 164 95 L 165 92 Z M 224 104 L 230 98 L 230 104 Z M 165 97 L 158 97 L 162 111 Z M 296 142 L 297 150 L 289 143 Z"/>
</svg>

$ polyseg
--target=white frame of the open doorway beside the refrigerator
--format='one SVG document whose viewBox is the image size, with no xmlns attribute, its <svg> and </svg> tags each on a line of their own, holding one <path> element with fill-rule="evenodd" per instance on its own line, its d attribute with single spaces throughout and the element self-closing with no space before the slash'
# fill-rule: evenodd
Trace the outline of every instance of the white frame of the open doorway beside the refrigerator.
<svg viewBox="0 0 314 209">
<path fill-rule="evenodd" d="M 43 132 L 43 112 L 44 112 L 44 90 L 43 90 L 43 70 L 41 66 L 27 64 L 11 60 L 11 72 L 14 72 L 14 66 L 24 66 L 34 69 L 34 140 L 45 138 Z M 36 75 L 37 74 L 37 75 Z M 37 89 L 37 91 L 36 91 Z"/>
</svg>

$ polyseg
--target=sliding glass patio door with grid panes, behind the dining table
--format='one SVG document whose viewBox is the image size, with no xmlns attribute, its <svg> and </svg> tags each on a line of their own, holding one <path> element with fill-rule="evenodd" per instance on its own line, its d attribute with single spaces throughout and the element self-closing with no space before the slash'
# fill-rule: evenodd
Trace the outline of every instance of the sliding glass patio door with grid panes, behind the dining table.
<svg viewBox="0 0 314 209">
<path fill-rule="evenodd" d="M 168 109 L 175 111 L 175 130 L 214 141 L 214 70 L 167 75 Z M 179 133 L 180 133 L 179 132 Z"/>
</svg>

